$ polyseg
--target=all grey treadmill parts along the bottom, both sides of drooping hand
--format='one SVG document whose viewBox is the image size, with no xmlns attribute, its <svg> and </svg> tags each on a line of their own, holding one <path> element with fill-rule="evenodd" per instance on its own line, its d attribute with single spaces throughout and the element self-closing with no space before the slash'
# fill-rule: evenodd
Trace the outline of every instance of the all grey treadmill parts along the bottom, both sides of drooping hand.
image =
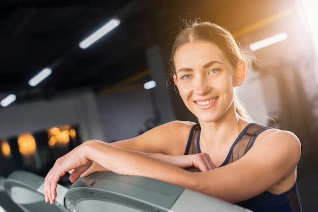
<svg viewBox="0 0 318 212">
<path fill-rule="evenodd" d="M 12 203 L 12 208 L 5 208 L 6 212 L 250 211 L 173 184 L 111 171 L 79 178 L 70 188 L 58 185 L 54 204 L 45 203 L 44 178 L 34 173 L 14 171 L 2 184 L 1 193 Z M 0 199 L 0 206 L 5 205 L 6 200 Z"/>
</svg>

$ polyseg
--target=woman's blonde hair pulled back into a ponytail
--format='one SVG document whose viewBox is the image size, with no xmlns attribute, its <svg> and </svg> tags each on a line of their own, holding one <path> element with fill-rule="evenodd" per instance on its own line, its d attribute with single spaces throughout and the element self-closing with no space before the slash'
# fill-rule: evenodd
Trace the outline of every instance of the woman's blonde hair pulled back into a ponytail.
<svg viewBox="0 0 318 212">
<path fill-rule="evenodd" d="M 239 60 L 244 60 L 247 67 L 251 67 L 251 63 L 255 61 L 252 55 L 246 55 L 241 50 L 239 43 L 232 37 L 231 33 L 225 28 L 220 27 L 211 22 L 188 21 L 185 27 L 179 31 L 175 38 L 175 42 L 171 52 L 171 76 L 176 75 L 174 66 L 174 56 L 177 49 L 184 44 L 196 41 L 210 42 L 223 51 L 233 67 L 236 67 Z M 235 111 L 243 119 L 252 121 L 244 108 L 238 96 L 234 99 Z"/>
</svg>

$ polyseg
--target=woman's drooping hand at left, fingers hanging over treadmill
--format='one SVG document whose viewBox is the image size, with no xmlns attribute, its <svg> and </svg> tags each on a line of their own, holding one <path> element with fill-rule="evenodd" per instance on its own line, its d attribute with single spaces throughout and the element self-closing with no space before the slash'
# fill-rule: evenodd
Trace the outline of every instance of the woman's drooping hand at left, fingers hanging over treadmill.
<svg viewBox="0 0 318 212">
<path fill-rule="evenodd" d="M 45 202 L 49 201 L 51 204 L 55 202 L 57 183 L 66 172 L 71 172 L 70 181 L 74 183 L 91 166 L 92 161 L 85 154 L 85 152 L 88 152 L 84 150 L 85 148 L 85 143 L 83 143 L 56 160 L 54 166 L 45 177 Z"/>
</svg>

